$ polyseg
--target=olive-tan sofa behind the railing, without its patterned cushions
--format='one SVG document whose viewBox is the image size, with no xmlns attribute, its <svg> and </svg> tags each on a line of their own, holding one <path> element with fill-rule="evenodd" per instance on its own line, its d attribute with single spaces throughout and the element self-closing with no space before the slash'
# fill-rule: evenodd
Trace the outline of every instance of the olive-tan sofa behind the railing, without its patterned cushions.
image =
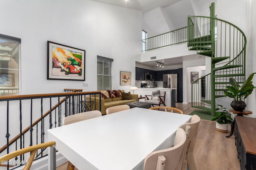
<svg viewBox="0 0 256 170">
<path fill-rule="evenodd" d="M 121 90 L 121 91 L 124 92 L 124 90 Z M 102 115 L 106 114 L 106 109 L 108 107 L 118 106 L 118 105 L 130 103 L 130 102 L 138 101 L 138 94 L 131 94 L 131 96 L 132 96 L 132 99 L 130 99 L 130 100 L 122 100 L 122 97 L 113 97 L 113 96 L 111 96 L 110 98 L 101 97 L 101 113 L 102 113 Z M 95 101 L 95 99 L 96 99 L 96 101 Z M 90 100 L 90 98 L 86 97 L 86 100 L 88 101 L 88 100 Z M 99 100 L 100 100 L 100 98 L 97 97 L 97 95 L 96 95 L 96 98 L 91 97 L 91 101 L 96 102 L 96 110 L 100 110 Z M 95 102 L 94 102 L 94 104 L 95 104 Z M 94 108 L 95 108 L 94 104 L 92 106 L 92 110 L 94 110 Z"/>
</svg>

